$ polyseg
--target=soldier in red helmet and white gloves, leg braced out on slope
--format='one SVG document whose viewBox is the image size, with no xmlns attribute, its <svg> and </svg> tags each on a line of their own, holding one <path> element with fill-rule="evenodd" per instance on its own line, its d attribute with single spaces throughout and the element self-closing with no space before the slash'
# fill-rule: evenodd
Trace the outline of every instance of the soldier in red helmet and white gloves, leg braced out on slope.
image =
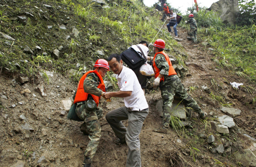
<svg viewBox="0 0 256 167">
<path fill-rule="evenodd" d="M 170 115 L 175 94 L 183 99 L 186 105 L 198 113 L 200 118 L 205 119 L 205 114 L 198 106 L 197 102 L 191 98 L 184 86 L 181 84 L 180 78 L 176 75 L 174 67 L 170 62 L 168 55 L 163 51 L 165 42 L 162 39 L 156 40 L 154 43 L 155 56 L 153 58 L 153 67 L 155 77 L 153 86 L 161 90 L 163 99 L 163 124 L 160 128 L 154 129 L 155 132 L 167 133 L 170 123 Z M 150 57 L 147 57 L 150 60 Z"/>
</svg>

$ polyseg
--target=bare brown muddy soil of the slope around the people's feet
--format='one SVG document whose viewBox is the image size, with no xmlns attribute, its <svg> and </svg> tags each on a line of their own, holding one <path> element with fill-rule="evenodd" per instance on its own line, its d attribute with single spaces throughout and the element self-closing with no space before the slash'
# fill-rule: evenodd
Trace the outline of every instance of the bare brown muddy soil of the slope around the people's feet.
<svg viewBox="0 0 256 167">
<path fill-rule="evenodd" d="M 189 75 L 182 78 L 185 88 L 195 87 L 189 94 L 199 103 L 207 119 L 202 121 L 194 114 L 191 125 L 179 134 L 173 129 L 168 134 L 153 132 L 159 127 L 162 119 L 156 112 L 156 102 L 161 98 L 159 91 L 146 95 L 150 112 L 144 121 L 141 134 L 142 166 L 237 166 L 233 153 L 249 148 L 253 141 L 243 134 L 255 137 L 256 110 L 250 95 L 241 90 L 234 90 L 229 82 L 249 82 L 238 76 L 231 75 L 225 69 L 217 67 L 211 61 L 208 47 L 189 45 L 186 31 L 179 30 L 180 42 L 187 51 L 185 60 Z M 81 122 L 67 119 L 62 100 L 71 99 L 77 85 L 58 73 L 50 72 L 49 84 L 38 76 L 37 82 L 21 85 L 18 76 L 0 76 L 0 163 L 1 166 L 81 166 L 83 153 L 89 142 L 88 136 L 80 132 Z M 214 78 L 218 86 L 212 86 Z M 37 91 L 38 85 L 44 86 L 46 96 Z M 240 116 L 234 118 L 237 124 L 229 134 L 219 134 L 210 128 L 210 121 L 224 115 L 220 105 L 209 104 L 210 95 L 202 90 L 207 86 L 210 91 L 225 98 L 231 107 L 242 110 Z M 255 88 L 255 85 L 251 85 Z M 29 89 L 31 93 L 21 94 Z M 189 90 L 188 90 L 189 91 Z M 255 96 L 255 94 L 254 94 Z M 231 98 L 232 97 L 232 98 Z M 101 99 L 100 106 L 104 115 L 111 110 L 123 106 L 122 98 L 113 98 L 111 102 Z M 93 159 L 93 166 L 125 166 L 127 146 L 113 143 L 115 135 L 105 118 L 100 119 L 102 137 Z M 127 122 L 124 121 L 126 125 Z M 30 130 L 25 130 L 24 126 Z M 30 127 L 28 127 L 30 125 Z M 230 147 L 231 151 L 223 154 L 211 153 L 214 145 L 207 144 L 207 136 L 214 134 L 215 143 Z M 243 165 L 242 165 L 243 166 Z"/>
</svg>

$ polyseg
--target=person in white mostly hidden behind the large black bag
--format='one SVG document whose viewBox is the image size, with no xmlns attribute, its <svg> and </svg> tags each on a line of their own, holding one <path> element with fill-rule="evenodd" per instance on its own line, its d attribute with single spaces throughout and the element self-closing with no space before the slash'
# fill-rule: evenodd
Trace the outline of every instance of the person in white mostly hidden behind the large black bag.
<svg viewBox="0 0 256 167">
<path fill-rule="evenodd" d="M 138 44 L 138 46 L 139 46 L 139 47 L 141 48 L 141 50 L 143 51 L 143 53 L 144 53 L 144 55 L 145 55 L 145 58 L 147 58 L 147 54 L 148 54 L 148 52 L 150 51 L 150 50 L 148 49 L 148 44 L 147 44 L 147 42 L 146 42 L 146 41 L 141 41 L 141 42 Z M 141 57 L 143 58 L 143 54 L 141 53 L 141 51 L 140 51 L 140 49 L 138 48 L 138 46 L 132 45 L 131 47 L 132 47 L 135 51 L 137 51 L 139 54 L 141 54 Z M 147 76 L 142 75 L 142 74 L 140 73 L 140 68 L 137 68 L 137 69 L 135 69 L 135 70 L 133 70 L 133 71 L 134 71 L 134 73 L 136 74 L 136 76 L 137 76 L 137 78 L 138 78 L 138 80 L 139 80 L 139 83 L 140 83 L 140 86 L 141 86 L 142 90 L 145 91 L 145 89 L 146 89 L 146 79 L 147 79 Z"/>
</svg>

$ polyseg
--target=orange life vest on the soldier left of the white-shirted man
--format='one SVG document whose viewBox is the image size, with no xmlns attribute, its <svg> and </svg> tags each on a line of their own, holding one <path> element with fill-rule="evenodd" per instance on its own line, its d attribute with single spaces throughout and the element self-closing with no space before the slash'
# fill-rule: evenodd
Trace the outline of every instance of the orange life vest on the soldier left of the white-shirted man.
<svg viewBox="0 0 256 167">
<path fill-rule="evenodd" d="M 83 76 L 81 77 L 81 79 L 79 80 L 78 82 L 78 87 L 77 87 L 77 91 L 76 91 L 76 97 L 75 97 L 75 100 L 74 100 L 74 103 L 77 103 L 77 102 L 80 102 L 80 101 L 86 101 L 87 98 L 88 98 L 88 93 L 84 92 L 84 89 L 83 89 L 83 81 L 84 79 L 86 79 L 86 76 L 90 73 L 95 73 L 98 78 L 100 79 L 100 84 L 98 85 L 97 88 L 101 89 L 103 92 L 105 92 L 105 85 L 104 85 L 104 81 L 102 79 L 102 77 L 100 76 L 100 74 L 98 73 L 98 71 L 96 70 L 91 70 L 91 71 L 88 71 L 87 73 L 83 74 Z M 96 95 L 92 95 L 90 94 L 92 97 L 93 97 L 93 100 L 96 102 L 97 106 L 99 104 L 99 99 L 100 99 L 100 96 L 96 96 Z"/>
</svg>

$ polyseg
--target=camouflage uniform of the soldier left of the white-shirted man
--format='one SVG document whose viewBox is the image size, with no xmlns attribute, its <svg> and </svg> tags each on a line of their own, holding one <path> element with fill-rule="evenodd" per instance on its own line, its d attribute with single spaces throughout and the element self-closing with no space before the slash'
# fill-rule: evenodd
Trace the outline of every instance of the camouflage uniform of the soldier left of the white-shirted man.
<svg viewBox="0 0 256 167">
<path fill-rule="evenodd" d="M 96 74 L 90 73 L 87 75 L 86 79 L 83 81 L 84 92 L 100 96 L 102 91 L 98 89 L 99 78 Z M 88 95 L 88 98 L 90 95 Z M 92 97 L 91 97 L 92 98 Z M 97 107 L 97 109 L 88 111 L 85 107 L 84 102 L 76 103 L 76 115 L 84 120 L 84 124 L 81 125 L 81 131 L 85 134 L 89 134 L 90 142 L 87 145 L 86 152 L 84 152 L 84 163 L 92 163 L 92 158 L 94 157 L 97 146 L 99 145 L 100 139 L 100 124 L 98 119 L 102 117 L 102 109 Z M 83 130 L 82 130 L 83 129 Z"/>
</svg>

